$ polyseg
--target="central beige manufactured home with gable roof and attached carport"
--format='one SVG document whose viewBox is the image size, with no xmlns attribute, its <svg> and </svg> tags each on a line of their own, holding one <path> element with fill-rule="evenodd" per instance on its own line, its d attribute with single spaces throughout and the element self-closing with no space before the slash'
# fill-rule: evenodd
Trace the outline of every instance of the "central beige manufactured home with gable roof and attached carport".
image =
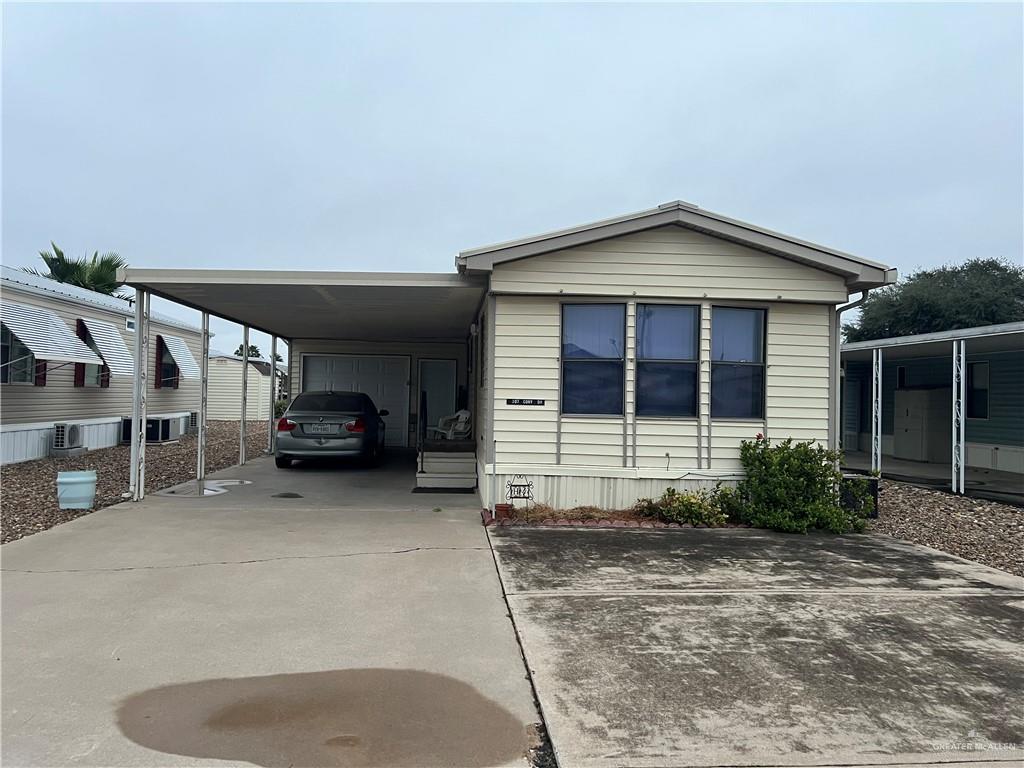
<svg viewBox="0 0 1024 768">
<path fill-rule="evenodd" d="M 623 507 L 736 479 L 759 433 L 838 445 L 837 306 L 896 271 L 674 202 L 464 251 L 454 273 L 125 278 L 287 339 L 293 396 L 370 394 L 417 484 Z M 431 427 L 457 411 L 445 445 Z"/>
</svg>

